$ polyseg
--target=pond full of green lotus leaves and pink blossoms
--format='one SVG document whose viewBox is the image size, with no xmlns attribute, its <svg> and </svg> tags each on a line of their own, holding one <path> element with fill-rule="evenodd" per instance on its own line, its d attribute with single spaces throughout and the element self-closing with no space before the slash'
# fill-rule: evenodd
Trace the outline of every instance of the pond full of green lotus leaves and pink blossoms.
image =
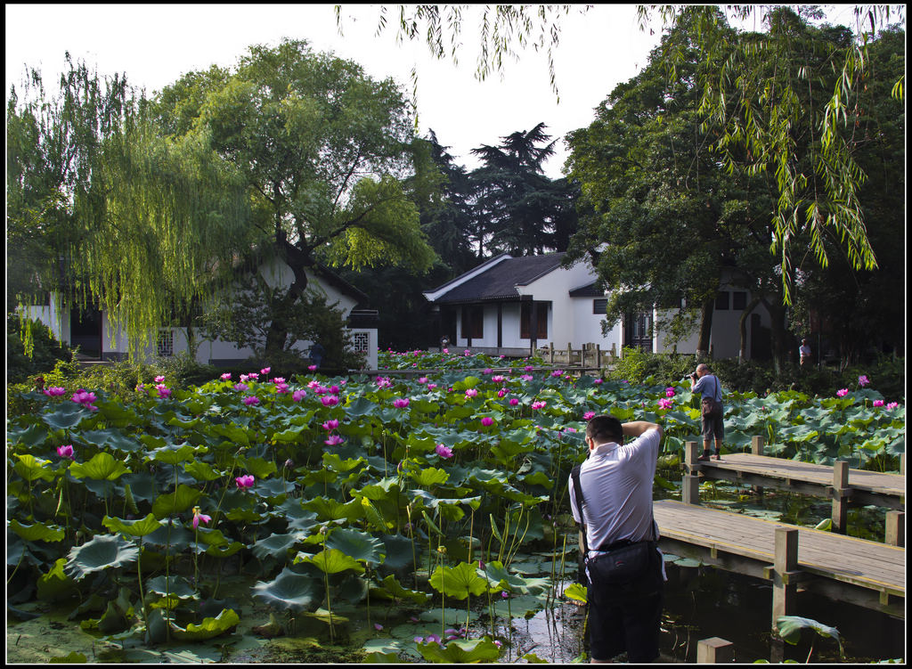
<svg viewBox="0 0 912 669">
<path fill-rule="evenodd" d="M 32 410 L 7 418 L 8 649 L 37 643 L 36 662 L 579 657 L 566 480 L 586 420 L 663 423 L 657 494 L 674 496 L 668 467 L 700 432 L 699 398 L 537 360 L 381 364 L 437 371 L 264 369 L 186 390 L 161 378 L 130 402 L 26 393 Z M 731 393 L 726 445 L 762 434 L 774 455 L 896 470 L 905 406 L 859 381 L 826 398 Z"/>
</svg>

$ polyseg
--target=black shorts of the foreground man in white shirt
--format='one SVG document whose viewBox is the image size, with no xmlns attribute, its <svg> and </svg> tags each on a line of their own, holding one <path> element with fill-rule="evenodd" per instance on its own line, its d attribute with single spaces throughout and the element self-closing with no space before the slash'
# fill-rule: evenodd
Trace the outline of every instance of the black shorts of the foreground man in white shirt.
<svg viewBox="0 0 912 669">
<path fill-rule="evenodd" d="M 625 586 L 589 583 L 589 653 L 594 660 L 611 660 L 627 651 L 631 663 L 658 657 L 662 618 L 662 558 L 658 551 L 645 576 Z"/>
</svg>

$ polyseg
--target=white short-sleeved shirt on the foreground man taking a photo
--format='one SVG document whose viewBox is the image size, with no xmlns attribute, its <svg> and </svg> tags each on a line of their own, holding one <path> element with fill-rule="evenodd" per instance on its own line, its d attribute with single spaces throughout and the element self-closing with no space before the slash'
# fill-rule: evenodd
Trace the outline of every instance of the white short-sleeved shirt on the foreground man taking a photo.
<svg viewBox="0 0 912 669">
<path fill-rule="evenodd" d="M 652 519 L 652 479 L 656 476 L 661 433 L 649 429 L 629 444 L 600 444 L 580 467 L 586 505 L 586 542 L 592 555 L 600 546 L 622 539 L 658 539 Z M 573 477 L 570 507 L 577 523 Z"/>
</svg>

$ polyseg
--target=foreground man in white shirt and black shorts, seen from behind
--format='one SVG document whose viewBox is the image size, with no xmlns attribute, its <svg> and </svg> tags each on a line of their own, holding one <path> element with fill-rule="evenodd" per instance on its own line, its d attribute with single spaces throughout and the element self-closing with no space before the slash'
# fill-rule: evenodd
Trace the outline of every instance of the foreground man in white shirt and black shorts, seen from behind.
<svg viewBox="0 0 912 669">
<path fill-rule="evenodd" d="M 625 436 L 633 441 L 624 444 Z M 624 651 L 629 662 L 658 657 L 664 570 L 655 546 L 652 479 L 661 438 L 661 426 L 647 421 L 622 424 L 614 416 L 602 415 L 586 425 L 589 457 L 579 470 L 582 515 L 573 476 L 570 506 L 576 522 L 586 526 L 589 652 L 594 663 L 610 662 Z M 617 548 L 642 542 L 648 542 L 642 574 L 629 582 L 607 584 L 598 559 L 610 559 Z"/>
</svg>

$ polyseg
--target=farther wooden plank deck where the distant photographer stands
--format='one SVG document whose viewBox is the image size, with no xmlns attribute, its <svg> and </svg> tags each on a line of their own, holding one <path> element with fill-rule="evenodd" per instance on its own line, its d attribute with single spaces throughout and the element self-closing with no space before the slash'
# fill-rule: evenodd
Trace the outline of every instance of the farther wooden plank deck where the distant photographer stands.
<svg viewBox="0 0 912 669">
<path fill-rule="evenodd" d="M 701 462 L 700 474 L 751 486 L 780 487 L 831 497 L 833 467 L 768 455 L 732 453 L 721 460 Z M 906 476 L 849 469 L 847 497 L 857 504 L 906 509 Z"/>
</svg>

